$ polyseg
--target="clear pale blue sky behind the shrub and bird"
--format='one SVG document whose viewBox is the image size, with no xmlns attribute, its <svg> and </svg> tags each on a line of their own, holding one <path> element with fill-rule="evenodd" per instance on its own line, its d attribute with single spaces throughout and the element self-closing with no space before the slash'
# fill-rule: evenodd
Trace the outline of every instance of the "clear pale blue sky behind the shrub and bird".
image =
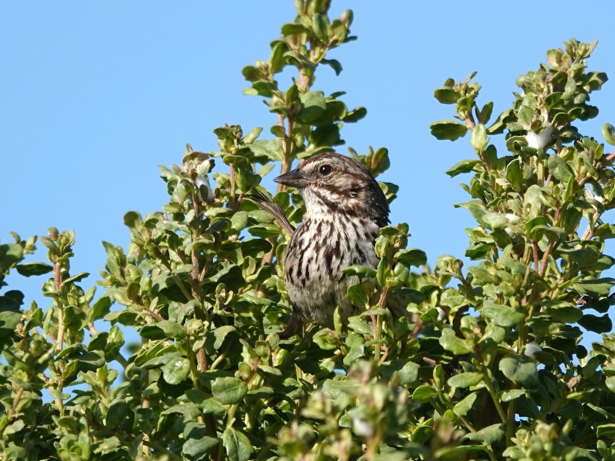
<svg viewBox="0 0 615 461">
<path fill-rule="evenodd" d="M 460 177 L 444 173 L 472 156 L 469 136 L 432 138 L 429 125 L 452 116 L 434 90 L 478 71 L 479 103 L 494 101 L 498 114 L 514 99 L 516 77 L 570 37 L 598 39 L 590 69 L 615 79 L 612 4 L 590 5 L 333 0 L 331 16 L 354 11 L 359 39 L 331 53 L 344 70 L 336 77 L 320 69 L 314 89 L 344 90 L 349 108 L 367 108 L 342 137 L 358 152 L 389 149 L 392 168 L 379 179 L 401 186 L 391 220 L 410 224 L 409 245 L 432 264 L 441 254 L 463 256 L 464 228 L 474 227 L 452 205 L 467 200 Z M 216 150 L 212 130 L 224 123 L 264 133 L 276 123 L 261 98 L 242 95 L 241 70 L 266 60 L 269 42 L 294 17 L 291 0 L 2 2 L 0 241 L 12 240 L 11 230 L 22 238 L 49 226 L 76 230 L 72 272 L 92 274 L 87 290 L 105 265 L 101 241 L 129 243 L 124 213 L 167 202 L 157 165 L 180 164 L 185 143 Z M 578 126 L 602 141 L 601 126 L 615 124 L 615 83 L 591 102 L 600 115 Z M 44 259 L 39 246 L 30 261 Z M 9 287 L 46 307 L 42 282 L 10 277 Z"/>
</svg>

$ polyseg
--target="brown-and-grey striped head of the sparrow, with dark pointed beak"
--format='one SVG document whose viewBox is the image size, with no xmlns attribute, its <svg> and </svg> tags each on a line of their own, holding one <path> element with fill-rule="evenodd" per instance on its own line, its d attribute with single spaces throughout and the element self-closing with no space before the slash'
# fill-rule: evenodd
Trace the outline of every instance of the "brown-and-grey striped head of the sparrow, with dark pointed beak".
<svg viewBox="0 0 615 461">
<path fill-rule="evenodd" d="M 317 154 L 274 181 L 299 189 L 308 217 L 342 213 L 371 219 L 379 227 L 389 223 L 389 205 L 383 191 L 370 171 L 350 157 L 332 152 Z"/>
</svg>

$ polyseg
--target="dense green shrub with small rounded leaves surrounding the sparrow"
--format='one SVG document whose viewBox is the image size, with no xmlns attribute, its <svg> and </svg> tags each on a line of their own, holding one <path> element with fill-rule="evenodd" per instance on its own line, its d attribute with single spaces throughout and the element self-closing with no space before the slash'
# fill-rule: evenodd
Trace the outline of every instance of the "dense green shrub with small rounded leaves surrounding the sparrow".
<svg viewBox="0 0 615 461">
<path fill-rule="evenodd" d="M 187 146 L 181 165 L 163 168 L 169 203 L 124 216 L 126 251 L 103 243 L 97 301 L 78 285 L 87 274 L 70 274 L 73 232 L 41 237 L 50 264 L 23 262 L 36 238 L 0 246 L 0 285 L 12 269 L 52 274 L 46 309 L 0 296 L 2 459 L 614 459 L 615 336 L 581 344 L 582 328 L 611 331 L 615 282 L 601 276 L 615 262 L 603 253 L 615 225 L 602 220 L 615 152 L 573 125 L 598 112 L 589 93 L 606 75 L 585 61 L 595 43 L 550 50 L 491 125 L 474 75 L 435 91 L 459 121 L 435 122 L 434 136 L 470 133 L 474 149 L 448 173 L 472 173 L 471 200 L 457 206 L 477 221 L 466 230 L 477 264 L 445 255 L 411 272 L 426 255 L 407 248 L 407 224 L 384 227 L 377 270 L 347 269 L 364 279 L 348 296 L 367 310 L 280 341 L 288 236 L 245 194 L 342 144 L 343 125 L 366 113 L 313 89 L 319 65 L 341 71 L 327 52 L 354 38 L 352 12 L 297 7 L 269 60 L 243 71 L 245 92 L 276 117 L 273 138 L 225 125 L 220 151 Z M 296 77 L 283 91 L 286 68 Z M 489 136 L 502 135 L 499 154 Z M 615 145 L 611 125 L 603 136 Z M 351 156 L 374 176 L 389 167 L 384 148 Z M 397 186 L 380 184 L 394 200 Z M 296 191 L 279 187 L 275 200 L 300 223 Z M 391 295 L 413 320 L 391 320 L 381 308 Z M 129 358 L 127 331 L 141 339 Z"/>
</svg>

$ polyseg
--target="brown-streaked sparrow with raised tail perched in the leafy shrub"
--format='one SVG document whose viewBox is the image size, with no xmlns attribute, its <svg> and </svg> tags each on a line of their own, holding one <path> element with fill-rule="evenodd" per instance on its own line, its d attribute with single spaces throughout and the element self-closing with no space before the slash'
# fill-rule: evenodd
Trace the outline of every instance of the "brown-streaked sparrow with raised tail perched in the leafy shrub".
<svg viewBox="0 0 615 461">
<path fill-rule="evenodd" d="M 374 242 L 380 228 L 390 223 L 390 210 L 370 171 L 334 152 L 312 156 L 274 181 L 296 187 L 305 205 L 304 219 L 295 229 L 277 203 L 263 194 L 251 197 L 292 235 L 284 258 L 292 313 L 279 333 L 280 339 L 288 339 L 309 321 L 333 328 L 338 306 L 342 318 L 358 313 L 347 289 L 359 283 L 359 277 L 342 271 L 354 265 L 378 266 Z"/>
</svg>

